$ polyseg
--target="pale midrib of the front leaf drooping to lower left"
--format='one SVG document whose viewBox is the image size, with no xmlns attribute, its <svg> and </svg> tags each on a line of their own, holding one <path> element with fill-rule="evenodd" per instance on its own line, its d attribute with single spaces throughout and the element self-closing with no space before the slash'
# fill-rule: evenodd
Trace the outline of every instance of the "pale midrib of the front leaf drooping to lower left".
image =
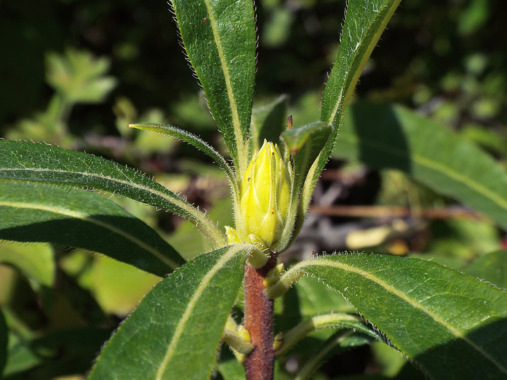
<svg viewBox="0 0 507 380">
<path fill-rule="evenodd" d="M 185 325 L 189 321 L 190 314 L 192 313 L 193 309 L 196 306 L 197 301 L 199 300 L 199 297 L 202 295 L 202 293 L 206 289 L 207 285 L 209 284 L 213 276 L 225 265 L 227 261 L 229 261 L 240 250 L 245 249 L 245 247 L 246 247 L 245 244 L 236 244 L 234 246 L 231 246 L 229 251 L 225 253 L 220 258 L 220 260 L 218 260 L 213 265 L 213 267 L 208 271 L 208 273 L 206 273 L 206 275 L 202 278 L 199 287 L 195 290 L 194 294 L 192 295 L 192 298 L 190 299 L 187 308 L 185 309 L 185 312 L 179 319 L 179 322 L 174 330 L 174 334 L 172 335 L 169 347 L 167 348 L 167 351 L 164 355 L 164 358 L 162 359 L 162 362 L 158 366 L 157 376 L 155 377 L 156 380 L 162 379 L 162 376 L 164 375 L 165 370 L 167 368 L 167 364 L 169 363 L 171 357 L 174 355 L 179 338 L 185 330 Z"/>
</svg>

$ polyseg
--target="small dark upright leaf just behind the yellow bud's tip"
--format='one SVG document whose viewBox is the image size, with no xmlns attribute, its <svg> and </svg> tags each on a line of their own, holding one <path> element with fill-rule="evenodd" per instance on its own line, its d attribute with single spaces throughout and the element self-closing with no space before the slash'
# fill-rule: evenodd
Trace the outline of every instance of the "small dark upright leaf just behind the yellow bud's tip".
<svg viewBox="0 0 507 380">
<path fill-rule="evenodd" d="M 259 150 L 264 139 L 280 144 L 280 134 L 287 122 L 287 96 L 281 95 L 272 102 L 252 111 L 251 134 L 253 148 Z"/>
</svg>

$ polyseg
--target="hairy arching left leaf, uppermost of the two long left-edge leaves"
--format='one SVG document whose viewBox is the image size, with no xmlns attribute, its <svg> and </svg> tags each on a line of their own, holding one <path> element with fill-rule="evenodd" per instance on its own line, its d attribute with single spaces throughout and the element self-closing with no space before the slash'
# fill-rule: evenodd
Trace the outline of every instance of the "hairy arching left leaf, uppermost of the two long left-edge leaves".
<svg viewBox="0 0 507 380">
<path fill-rule="evenodd" d="M 190 219 L 215 245 L 225 235 L 202 212 L 141 173 L 113 161 L 57 146 L 0 141 L 0 180 L 88 187 L 123 195 Z"/>
</svg>

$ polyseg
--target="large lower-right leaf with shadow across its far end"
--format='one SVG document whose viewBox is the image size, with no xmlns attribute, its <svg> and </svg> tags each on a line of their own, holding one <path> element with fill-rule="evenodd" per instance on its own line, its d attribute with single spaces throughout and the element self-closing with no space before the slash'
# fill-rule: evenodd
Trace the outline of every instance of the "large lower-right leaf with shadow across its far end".
<svg viewBox="0 0 507 380">
<path fill-rule="evenodd" d="M 502 289 L 430 261 L 387 255 L 333 255 L 289 271 L 342 293 L 431 378 L 507 377 Z"/>
</svg>

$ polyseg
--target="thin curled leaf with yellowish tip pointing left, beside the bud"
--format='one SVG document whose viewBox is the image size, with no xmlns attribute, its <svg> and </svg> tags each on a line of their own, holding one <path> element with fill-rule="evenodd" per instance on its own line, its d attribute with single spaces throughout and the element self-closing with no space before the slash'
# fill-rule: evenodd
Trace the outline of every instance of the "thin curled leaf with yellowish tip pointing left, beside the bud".
<svg viewBox="0 0 507 380">
<path fill-rule="evenodd" d="M 224 171 L 224 173 L 229 178 L 229 181 L 236 185 L 236 175 L 234 174 L 233 169 L 229 166 L 227 161 L 225 161 L 224 157 L 218 153 L 211 145 L 209 145 L 206 141 L 202 140 L 200 137 L 187 132 L 183 129 L 179 129 L 173 127 L 171 125 L 160 125 L 154 123 L 136 123 L 130 124 L 129 127 L 141 129 L 143 131 L 154 131 L 163 133 L 169 136 L 176 137 L 180 140 L 188 142 L 189 144 L 195 146 L 197 149 L 202 150 L 205 154 L 211 157 Z"/>
</svg>

